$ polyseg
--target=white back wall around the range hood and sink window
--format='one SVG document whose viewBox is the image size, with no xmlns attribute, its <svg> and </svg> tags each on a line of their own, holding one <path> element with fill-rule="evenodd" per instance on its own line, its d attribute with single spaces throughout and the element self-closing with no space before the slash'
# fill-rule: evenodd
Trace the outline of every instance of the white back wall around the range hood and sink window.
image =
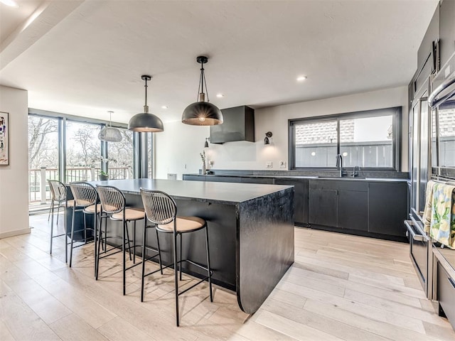
<svg viewBox="0 0 455 341">
<path fill-rule="evenodd" d="M 215 169 L 266 170 L 267 161 L 272 161 L 272 170 L 287 170 L 289 119 L 387 107 L 402 107 L 402 171 L 407 171 L 407 87 L 256 109 L 255 143 L 210 144 L 205 153 L 208 160 L 213 160 Z M 181 122 L 166 124 L 165 129 L 164 133 L 156 134 L 156 178 L 177 173 L 181 179 L 182 173 L 198 173 L 201 168 L 199 153 L 203 151 L 210 130 Z M 273 143 L 264 146 L 267 131 L 272 131 Z M 286 168 L 279 168 L 279 161 L 285 161 Z M 183 168 L 185 164 L 186 169 Z"/>
</svg>

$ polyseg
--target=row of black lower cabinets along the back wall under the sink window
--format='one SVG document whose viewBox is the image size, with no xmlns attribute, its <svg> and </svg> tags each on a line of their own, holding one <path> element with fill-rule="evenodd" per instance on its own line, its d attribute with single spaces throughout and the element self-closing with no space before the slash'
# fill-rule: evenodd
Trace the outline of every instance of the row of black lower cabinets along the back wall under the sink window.
<svg viewBox="0 0 455 341">
<path fill-rule="evenodd" d="M 297 226 L 407 241 L 406 182 L 216 175 L 183 175 L 183 180 L 292 185 Z"/>
</svg>

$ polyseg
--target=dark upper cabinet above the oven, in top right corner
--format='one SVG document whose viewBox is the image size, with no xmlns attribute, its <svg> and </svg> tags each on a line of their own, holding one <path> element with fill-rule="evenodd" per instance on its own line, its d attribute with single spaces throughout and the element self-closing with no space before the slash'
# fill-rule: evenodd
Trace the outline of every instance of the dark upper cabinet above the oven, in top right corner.
<svg viewBox="0 0 455 341">
<path fill-rule="evenodd" d="M 455 1 L 443 0 L 439 6 L 439 60 L 441 67 L 455 53 Z"/>
</svg>

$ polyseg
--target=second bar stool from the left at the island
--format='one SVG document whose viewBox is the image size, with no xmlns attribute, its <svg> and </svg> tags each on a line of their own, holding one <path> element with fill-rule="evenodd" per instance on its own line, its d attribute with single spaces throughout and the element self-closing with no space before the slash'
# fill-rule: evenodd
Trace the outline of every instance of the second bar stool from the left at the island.
<svg viewBox="0 0 455 341">
<path fill-rule="evenodd" d="M 70 183 L 70 189 L 73 193 L 73 197 L 75 200 L 75 205 L 73 205 L 73 217 L 71 220 L 71 247 L 70 247 L 70 267 L 73 265 L 73 244 L 74 244 L 74 234 L 75 232 L 84 232 L 84 244 L 87 243 L 87 222 L 85 220 L 86 215 L 95 215 L 93 228 L 88 228 L 89 230 L 93 231 L 93 238 L 95 242 L 95 255 L 97 254 L 97 220 L 98 215 L 101 210 L 100 204 L 97 203 L 98 201 L 98 194 L 97 190 L 93 185 L 87 183 L 85 181 L 76 181 L 74 183 Z M 84 215 L 84 228 L 83 229 L 75 229 L 75 213 L 82 212 Z M 82 246 L 82 245 L 78 245 Z M 95 264 L 95 274 L 97 272 L 96 264 Z"/>
</svg>

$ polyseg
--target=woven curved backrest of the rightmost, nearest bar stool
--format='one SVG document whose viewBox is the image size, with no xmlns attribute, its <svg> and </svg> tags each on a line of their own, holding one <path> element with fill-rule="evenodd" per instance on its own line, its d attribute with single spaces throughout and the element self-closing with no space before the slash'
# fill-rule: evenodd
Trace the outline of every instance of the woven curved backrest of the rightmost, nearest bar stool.
<svg viewBox="0 0 455 341">
<path fill-rule="evenodd" d="M 141 197 L 147 220 L 150 222 L 168 224 L 176 219 L 176 202 L 167 193 L 141 188 Z"/>
</svg>

